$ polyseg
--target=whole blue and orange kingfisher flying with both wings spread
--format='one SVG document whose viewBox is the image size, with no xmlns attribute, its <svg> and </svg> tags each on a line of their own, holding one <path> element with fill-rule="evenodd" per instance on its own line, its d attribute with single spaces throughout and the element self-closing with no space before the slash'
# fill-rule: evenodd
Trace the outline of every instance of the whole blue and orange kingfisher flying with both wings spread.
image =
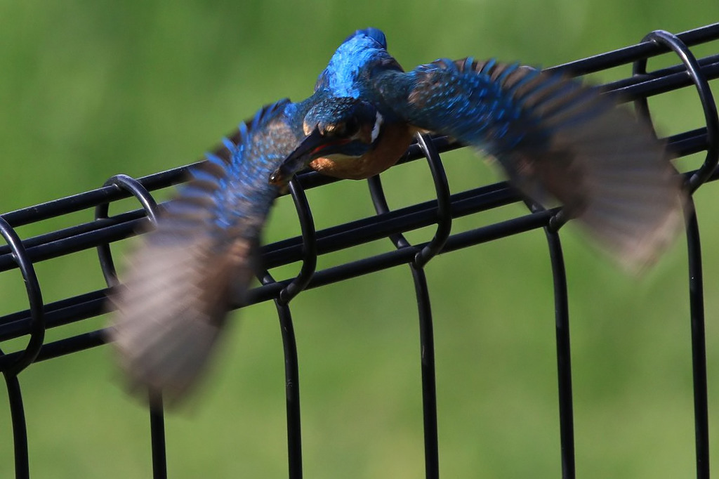
<svg viewBox="0 0 719 479">
<path fill-rule="evenodd" d="M 656 260 L 682 225 L 682 182 L 651 127 L 598 88 L 495 60 L 440 59 L 405 71 L 383 32 L 349 35 L 313 94 L 265 106 L 227 155 L 208 154 L 131 255 L 109 340 L 134 388 L 177 402 L 206 369 L 259 262 L 262 227 L 303 168 L 363 179 L 417 132 L 498 160 L 521 193 L 562 204 L 628 270 Z"/>
</svg>

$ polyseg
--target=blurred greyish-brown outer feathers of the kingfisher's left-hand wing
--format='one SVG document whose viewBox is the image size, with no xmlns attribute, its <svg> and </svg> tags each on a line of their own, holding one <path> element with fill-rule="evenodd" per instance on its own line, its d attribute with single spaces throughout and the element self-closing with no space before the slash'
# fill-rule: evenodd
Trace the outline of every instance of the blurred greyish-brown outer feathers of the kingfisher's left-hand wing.
<svg viewBox="0 0 719 479">
<path fill-rule="evenodd" d="M 238 240 L 217 252 L 210 237 L 198 237 L 161 247 L 145 242 L 132 256 L 111 298 L 117 311 L 110 329 L 131 388 L 162 391 L 173 403 L 195 385 L 235 299 L 230 289 L 247 288 L 249 250 Z"/>
</svg>

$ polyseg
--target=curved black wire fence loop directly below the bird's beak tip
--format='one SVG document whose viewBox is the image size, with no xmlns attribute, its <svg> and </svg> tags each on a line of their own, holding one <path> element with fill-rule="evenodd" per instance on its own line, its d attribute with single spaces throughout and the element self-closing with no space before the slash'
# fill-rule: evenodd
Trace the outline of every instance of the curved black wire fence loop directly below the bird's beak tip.
<svg viewBox="0 0 719 479">
<path fill-rule="evenodd" d="M 297 177 L 290 180 L 289 187 L 302 232 L 302 268 L 296 278 L 280 291 L 278 297 L 283 304 L 288 304 L 307 287 L 317 266 L 317 235 L 307 196 Z"/>
</svg>

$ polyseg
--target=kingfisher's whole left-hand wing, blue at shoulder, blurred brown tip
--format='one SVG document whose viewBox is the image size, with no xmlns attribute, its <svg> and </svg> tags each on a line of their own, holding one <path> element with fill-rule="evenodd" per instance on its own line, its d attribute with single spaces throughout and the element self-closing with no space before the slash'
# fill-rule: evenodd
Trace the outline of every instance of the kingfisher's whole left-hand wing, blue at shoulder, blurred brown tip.
<svg viewBox="0 0 719 479">
<path fill-rule="evenodd" d="M 247 289 L 252 257 L 277 188 L 267 175 L 292 150 L 280 101 L 226 140 L 229 159 L 208 155 L 129 260 L 111 300 L 111 341 L 134 388 L 170 403 L 206 366 L 231 301 Z M 280 140 L 281 139 L 281 140 Z"/>
</svg>

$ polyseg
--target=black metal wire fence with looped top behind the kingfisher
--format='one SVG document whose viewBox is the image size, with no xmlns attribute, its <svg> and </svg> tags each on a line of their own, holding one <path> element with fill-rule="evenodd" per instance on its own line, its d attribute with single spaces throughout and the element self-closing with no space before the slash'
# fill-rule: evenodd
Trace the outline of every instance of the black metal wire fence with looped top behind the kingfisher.
<svg viewBox="0 0 719 479">
<path fill-rule="evenodd" d="M 628 101 L 634 101 L 636 109 L 646 115 L 650 114 L 647 106 L 648 97 L 679 88 L 695 88 L 704 111 L 706 126 L 668 138 L 670 147 L 677 152 L 679 157 L 706 152 L 703 165 L 685 173 L 687 191 L 694 193 L 706 181 L 719 178 L 719 170 L 716 168 L 719 160 L 719 121 L 716 104 L 708 84 L 710 79 L 719 77 L 719 53 L 705 58 L 695 58 L 690 47 L 716 39 L 719 39 L 719 24 L 708 25 L 678 35 L 661 31 L 652 32 L 637 45 L 577 60 L 552 69 L 578 76 L 619 65 L 632 64 L 631 76 L 608 83 L 605 88 L 607 91 L 620 93 Z M 647 73 L 647 58 L 667 52 L 676 53 L 679 58 L 676 65 Z M 408 264 L 411 266 L 420 319 L 426 477 L 437 478 L 439 477 L 439 453 L 434 382 L 434 339 L 429 290 L 423 268 L 432 257 L 440 252 L 458 250 L 539 228 L 544 228 L 546 232 L 554 276 L 562 477 L 574 478 L 569 309 L 562 247 L 556 225 L 552 222 L 557 211 L 544 210 L 539 205 L 528 204 L 531 213 L 524 216 L 452 234 L 452 219 L 454 218 L 522 201 L 516 192 L 505 183 L 496 183 L 450 194 L 439 153 L 457 147 L 461 147 L 461 145 L 454 145 L 444 137 L 421 136 L 400 160 L 400 163 L 403 163 L 426 158 L 432 178 L 434 178 L 435 200 L 390 211 L 380 178 L 370 178 L 370 194 L 377 214 L 321 231 L 316 231 L 314 228 L 312 212 L 303 191 L 307 188 L 323 186 L 334 180 L 316 173 L 303 173 L 291 183 L 290 193 L 301 222 L 301 237 L 292 237 L 265 245 L 262 248 L 262 256 L 267 268 L 301 261 L 301 272 L 296 278 L 279 281 L 272 278 L 269 273 L 265 273 L 261 278 L 262 286 L 252 290 L 249 295 L 250 304 L 260 301 L 275 301 L 282 325 L 285 346 L 290 478 L 300 478 L 302 475 L 298 360 L 289 308 L 292 298 L 306 288 L 318 288 L 397 265 Z M 219 150 L 219 154 L 222 154 L 221 150 Z M 27 346 L 24 347 L 24 350 L 0 355 L 0 370 L 6 381 L 12 416 L 14 467 L 17 478 L 29 477 L 28 441 L 19 375 L 33 362 L 51 360 L 104 343 L 104 335 L 101 330 L 91 330 L 52 342 L 45 342 L 46 329 L 83 321 L 101 314 L 104 311 L 108 290 L 103 287 L 97 291 L 88 291 L 78 296 L 45 304 L 42 300 L 42 285 L 35 275 L 35 263 L 80 250 L 97 248 L 100 258 L 99 266 L 107 283 L 111 286 L 114 284 L 115 275 L 109 245 L 119 239 L 132 236 L 139 223 L 144 221 L 146 214 L 153 214 L 157 206 L 150 191 L 182 181 L 186 169 L 187 167 L 176 168 L 139 179 L 118 175 L 111 178 L 102 188 L 0 216 L 0 234 L 7 243 L 0 247 L 0 271 L 19 269 L 27 288 L 29 303 L 27 310 L 0 317 L 0 341 L 27 337 Z M 116 216 L 107 216 L 109 203 L 129 196 L 136 197 L 142 204 L 142 209 Z M 16 232 L 16 228 L 22 225 L 91 208 L 96 209 L 95 219 L 91 222 L 75 224 L 73 227 L 25 239 L 21 239 Z M 404 232 L 433 224 L 436 225 L 436 233 L 434 238 L 426 244 L 412 245 L 403 237 Z M 389 238 L 395 245 L 395 250 L 316 270 L 318 255 L 363 245 L 381 238 Z M 708 478 L 709 421 L 702 297 L 702 253 L 695 214 L 687 218 L 687 239 L 695 397 L 696 475 L 697 478 Z M 156 478 L 163 478 L 167 475 L 167 469 L 165 465 L 165 428 L 161 404 L 155 404 L 150 408 L 150 431 L 153 473 Z M 9 432 L 1 432 L 1 434 L 9 434 Z"/>
</svg>

